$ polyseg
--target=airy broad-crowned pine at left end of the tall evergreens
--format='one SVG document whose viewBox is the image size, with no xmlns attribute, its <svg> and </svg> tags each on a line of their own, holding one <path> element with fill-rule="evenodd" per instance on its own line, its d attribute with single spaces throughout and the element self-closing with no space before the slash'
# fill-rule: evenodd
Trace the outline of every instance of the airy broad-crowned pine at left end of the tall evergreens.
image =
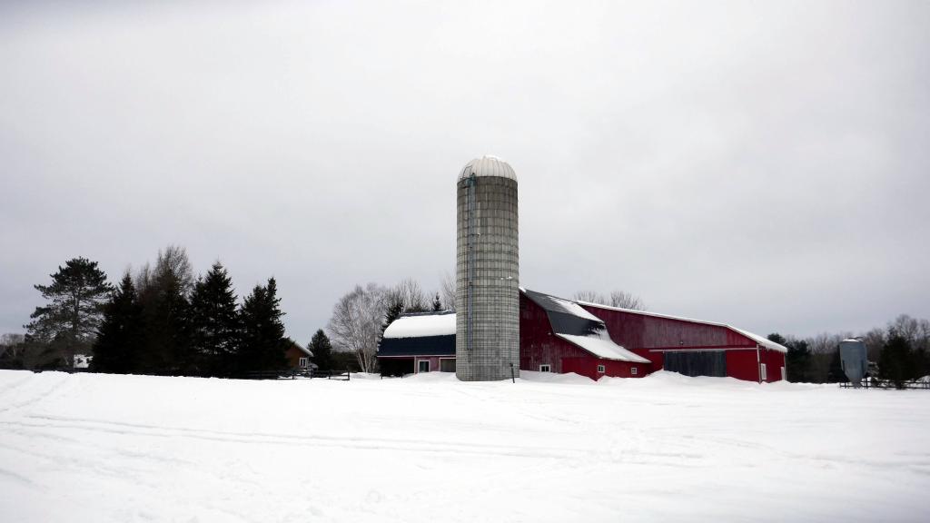
<svg viewBox="0 0 930 523">
<path fill-rule="evenodd" d="M 35 308 L 26 325 L 32 342 L 45 344 L 48 366 L 73 367 L 74 355 L 89 349 L 113 286 L 97 262 L 74 258 L 51 275 L 51 285 L 36 285 L 50 302 Z"/>
</svg>

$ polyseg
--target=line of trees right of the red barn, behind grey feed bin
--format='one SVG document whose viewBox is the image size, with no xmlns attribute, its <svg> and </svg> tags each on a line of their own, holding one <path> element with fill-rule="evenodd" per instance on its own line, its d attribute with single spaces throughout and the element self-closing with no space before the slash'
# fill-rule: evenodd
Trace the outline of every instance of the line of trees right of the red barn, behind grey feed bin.
<svg viewBox="0 0 930 523">
<path fill-rule="evenodd" d="M 819 334 L 796 338 L 770 334 L 768 339 L 788 347 L 786 368 L 790 382 L 846 382 L 840 364 L 840 342 L 857 338 L 865 343 L 870 375 L 883 380 L 904 382 L 930 375 L 930 321 L 899 315 L 885 328 Z"/>
</svg>

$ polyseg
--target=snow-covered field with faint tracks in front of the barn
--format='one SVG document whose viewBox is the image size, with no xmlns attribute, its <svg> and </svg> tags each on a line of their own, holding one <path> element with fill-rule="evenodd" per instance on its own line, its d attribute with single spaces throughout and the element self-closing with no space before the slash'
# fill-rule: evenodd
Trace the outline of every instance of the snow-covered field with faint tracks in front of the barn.
<svg viewBox="0 0 930 523">
<path fill-rule="evenodd" d="M 0 371 L 0 520 L 930 520 L 927 391 L 525 376 Z"/>
</svg>

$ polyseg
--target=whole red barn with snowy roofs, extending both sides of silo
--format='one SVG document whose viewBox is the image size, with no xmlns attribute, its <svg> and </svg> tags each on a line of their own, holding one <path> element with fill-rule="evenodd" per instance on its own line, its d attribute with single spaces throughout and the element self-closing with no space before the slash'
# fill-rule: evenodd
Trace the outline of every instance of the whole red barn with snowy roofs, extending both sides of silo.
<svg viewBox="0 0 930 523">
<path fill-rule="evenodd" d="M 404 315 L 384 332 L 384 374 L 455 370 L 455 314 Z M 730 376 L 751 382 L 785 379 L 788 349 L 745 330 L 520 289 L 520 369 L 641 378 L 660 370 Z M 516 362 L 514 362 L 516 363 Z"/>
</svg>

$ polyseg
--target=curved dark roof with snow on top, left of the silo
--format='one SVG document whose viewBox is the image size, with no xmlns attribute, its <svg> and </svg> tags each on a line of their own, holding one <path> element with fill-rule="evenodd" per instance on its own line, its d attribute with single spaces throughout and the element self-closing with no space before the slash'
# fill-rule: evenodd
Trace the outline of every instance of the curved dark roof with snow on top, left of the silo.
<svg viewBox="0 0 930 523">
<path fill-rule="evenodd" d="M 456 314 L 411 313 L 402 315 L 384 329 L 379 356 L 455 355 Z"/>
</svg>

